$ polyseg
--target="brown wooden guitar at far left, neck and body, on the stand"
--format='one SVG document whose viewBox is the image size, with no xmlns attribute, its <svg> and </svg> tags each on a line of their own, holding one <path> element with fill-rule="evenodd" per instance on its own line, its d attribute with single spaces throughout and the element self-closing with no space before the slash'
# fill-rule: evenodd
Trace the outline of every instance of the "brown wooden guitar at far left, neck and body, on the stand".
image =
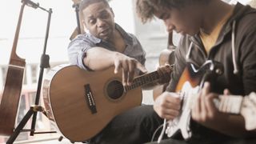
<svg viewBox="0 0 256 144">
<path fill-rule="evenodd" d="M 18 25 L 15 32 L 14 43 L 10 54 L 10 62 L 6 75 L 6 84 L 0 98 L 0 135 L 10 136 L 14 132 L 14 125 L 18 111 L 18 103 L 22 90 L 23 73 L 26 66 L 25 59 L 16 54 L 18 35 L 21 28 L 22 14 L 25 7 L 23 2 Z"/>
</svg>

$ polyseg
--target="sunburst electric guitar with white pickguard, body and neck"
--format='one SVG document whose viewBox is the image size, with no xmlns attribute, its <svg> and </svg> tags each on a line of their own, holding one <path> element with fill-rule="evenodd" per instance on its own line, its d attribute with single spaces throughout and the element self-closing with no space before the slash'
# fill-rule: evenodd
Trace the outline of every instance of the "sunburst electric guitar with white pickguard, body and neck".
<svg viewBox="0 0 256 144">
<path fill-rule="evenodd" d="M 196 71 L 196 72 L 195 72 Z M 182 109 L 177 118 L 167 122 L 166 134 L 168 137 L 173 136 L 178 130 L 181 130 L 182 137 L 188 139 L 192 133 L 190 130 L 191 108 L 194 106 L 194 101 L 198 98 L 198 93 L 202 89 L 202 80 L 200 86 L 197 78 L 197 73 L 200 70 L 186 68 L 182 77 L 178 82 L 176 92 L 182 98 Z M 212 70 L 222 71 L 222 70 Z M 256 94 L 251 93 L 249 96 L 242 97 L 237 95 L 223 96 L 219 95 L 214 99 L 214 104 L 220 112 L 229 114 L 242 114 L 246 121 L 246 130 L 256 129 Z"/>
</svg>

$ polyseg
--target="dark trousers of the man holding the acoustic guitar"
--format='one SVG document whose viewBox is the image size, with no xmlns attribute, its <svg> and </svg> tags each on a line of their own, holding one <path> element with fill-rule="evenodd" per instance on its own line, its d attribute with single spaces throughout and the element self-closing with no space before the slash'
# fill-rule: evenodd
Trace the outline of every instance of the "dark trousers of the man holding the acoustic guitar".
<svg viewBox="0 0 256 144">
<path fill-rule="evenodd" d="M 90 139 L 90 144 L 150 142 L 154 131 L 162 122 L 162 118 L 154 112 L 153 106 L 137 106 L 116 116 L 99 134 Z"/>
</svg>

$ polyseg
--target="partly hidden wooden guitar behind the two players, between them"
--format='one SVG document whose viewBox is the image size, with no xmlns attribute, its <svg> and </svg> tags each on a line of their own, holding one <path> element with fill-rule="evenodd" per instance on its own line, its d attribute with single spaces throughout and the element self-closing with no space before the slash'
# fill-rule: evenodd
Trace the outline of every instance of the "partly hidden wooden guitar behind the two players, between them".
<svg viewBox="0 0 256 144">
<path fill-rule="evenodd" d="M 159 56 L 159 66 L 164 66 L 165 64 L 172 65 L 175 62 L 175 56 L 174 56 L 174 50 L 175 46 L 173 43 L 173 33 L 169 33 L 168 35 L 168 44 L 167 49 L 162 50 L 160 56 Z M 154 100 L 162 94 L 166 90 L 166 86 L 168 86 L 169 83 L 163 84 L 161 86 L 155 86 L 153 90 L 153 98 Z"/>
</svg>

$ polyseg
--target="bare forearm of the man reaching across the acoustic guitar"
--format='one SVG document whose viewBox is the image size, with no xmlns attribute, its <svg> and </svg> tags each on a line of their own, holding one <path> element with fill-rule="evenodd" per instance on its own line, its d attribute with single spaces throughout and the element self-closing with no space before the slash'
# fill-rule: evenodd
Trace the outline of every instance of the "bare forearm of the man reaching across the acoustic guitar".
<svg viewBox="0 0 256 144">
<path fill-rule="evenodd" d="M 86 57 L 83 58 L 83 62 L 91 70 L 105 70 L 110 66 L 114 66 L 114 58 L 118 54 L 118 52 L 101 47 L 94 47 L 94 49 L 86 51 Z"/>
</svg>

